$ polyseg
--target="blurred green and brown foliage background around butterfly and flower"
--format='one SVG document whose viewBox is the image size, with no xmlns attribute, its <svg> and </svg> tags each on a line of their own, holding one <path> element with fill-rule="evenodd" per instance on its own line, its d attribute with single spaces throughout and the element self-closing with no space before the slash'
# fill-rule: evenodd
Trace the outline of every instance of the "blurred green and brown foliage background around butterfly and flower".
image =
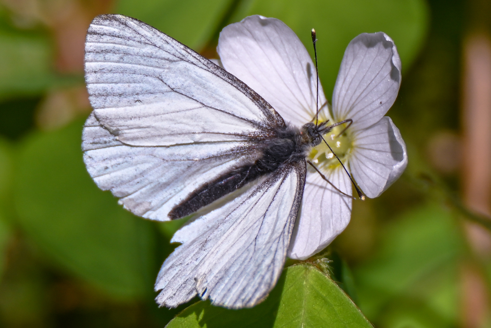
<svg viewBox="0 0 491 328">
<path fill-rule="evenodd" d="M 91 110 L 85 31 L 94 16 L 114 12 L 208 58 L 217 57 L 219 31 L 247 15 L 283 20 L 309 51 L 315 28 L 328 99 L 349 41 L 390 35 L 403 82 L 388 115 L 409 166 L 381 197 L 354 202 L 350 225 L 324 253 L 327 269 L 375 327 L 491 327 L 489 0 L 0 0 L 1 327 L 164 327 L 196 301 L 169 310 L 153 300 L 182 222 L 133 216 L 82 162 Z M 295 270 L 255 312 L 198 303 L 169 327 L 195 327 L 186 315 L 203 307 L 196 327 L 355 327 L 281 317 L 274 302 L 283 286 L 310 272 Z M 314 290 L 339 294 L 337 286 Z M 261 319 L 244 319 L 254 316 Z"/>
</svg>

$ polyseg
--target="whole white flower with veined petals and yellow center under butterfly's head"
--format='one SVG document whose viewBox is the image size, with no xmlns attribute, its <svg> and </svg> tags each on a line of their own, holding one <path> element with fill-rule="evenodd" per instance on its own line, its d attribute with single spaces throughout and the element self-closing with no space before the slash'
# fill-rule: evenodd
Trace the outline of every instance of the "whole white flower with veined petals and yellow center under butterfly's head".
<svg viewBox="0 0 491 328">
<path fill-rule="evenodd" d="M 225 27 L 218 40 L 221 64 L 266 99 L 291 124 L 315 121 L 316 73 L 295 32 L 275 18 L 249 16 Z M 322 57 L 322 56 L 321 56 Z M 383 32 L 362 33 L 346 48 L 332 95 L 319 120 L 353 119 L 324 136 L 368 197 L 377 197 L 399 178 L 408 163 L 406 145 L 392 120 L 383 116 L 401 85 L 401 60 Z M 319 106 L 326 103 L 319 84 Z M 311 160 L 339 190 L 351 195 L 348 175 L 321 143 Z M 348 225 L 352 198 L 330 186 L 312 167 L 288 256 L 306 259 L 325 248 Z"/>
</svg>

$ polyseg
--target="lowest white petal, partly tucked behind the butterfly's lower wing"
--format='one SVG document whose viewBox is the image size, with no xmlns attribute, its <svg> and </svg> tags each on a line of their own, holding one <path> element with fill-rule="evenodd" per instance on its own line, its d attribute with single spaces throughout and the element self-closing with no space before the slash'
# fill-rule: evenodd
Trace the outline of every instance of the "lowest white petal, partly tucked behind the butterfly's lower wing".
<svg viewBox="0 0 491 328">
<path fill-rule="evenodd" d="M 302 205 L 288 250 L 292 259 L 304 260 L 321 251 L 350 222 L 352 198 L 339 193 L 311 169 L 307 172 Z M 326 178 L 351 195 L 351 181 L 342 167 L 330 171 Z"/>
</svg>

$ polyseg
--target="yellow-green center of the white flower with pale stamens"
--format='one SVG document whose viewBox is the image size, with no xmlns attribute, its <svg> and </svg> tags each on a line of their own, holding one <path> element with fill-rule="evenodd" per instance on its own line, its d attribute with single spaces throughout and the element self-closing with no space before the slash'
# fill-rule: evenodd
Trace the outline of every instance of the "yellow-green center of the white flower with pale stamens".
<svg viewBox="0 0 491 328">
<path fill-rule="evenodd" d="M 353 141 L 349 131 L 350 129 L 348 128 L 343 132 L 345 128 L 346 124 L 341 124 L 333 127 L 332 130 L 323 135 L 326 142 L 343 162 L 343 164 L 345 164 L 353 149 Z M 336 156 L 334 156 L 324 141 L 321 141 L 319 145 L 310 150 L 309 154 L 307 155 L 307 159 L 318 168 L 324 168 L 326 170 L 332 170 L 340 165 L 339 161 L 336 159 Z"/>
</svg>

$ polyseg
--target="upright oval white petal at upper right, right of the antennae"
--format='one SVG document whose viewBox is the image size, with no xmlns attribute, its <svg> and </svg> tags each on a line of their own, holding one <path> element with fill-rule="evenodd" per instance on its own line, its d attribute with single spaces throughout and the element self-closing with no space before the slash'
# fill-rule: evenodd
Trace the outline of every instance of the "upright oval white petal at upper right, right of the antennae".
<svg viewBox="0 0 491 328">
<path fill-rule="evenodd" d="M 383 32 L 361 33 L 344 53 L 332 94 L 335 121 L 353 119 L 353 128 L 375 124 L 392 106 L 401 86 L 401 59 Z"/>
</svg>

